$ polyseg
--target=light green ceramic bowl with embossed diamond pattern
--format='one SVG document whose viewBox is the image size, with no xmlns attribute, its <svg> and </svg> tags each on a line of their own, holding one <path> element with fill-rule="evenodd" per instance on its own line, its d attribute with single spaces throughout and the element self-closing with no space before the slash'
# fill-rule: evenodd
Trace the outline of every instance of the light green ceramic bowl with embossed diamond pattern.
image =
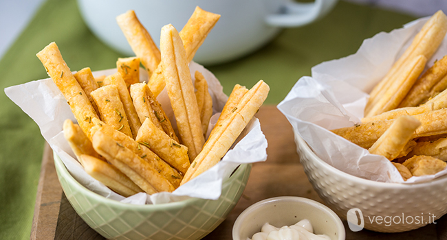
<svg viewBox="0 0 447 240">
<path fill-rule="evenodd" d="M 78 215 L 107 239 L 201 239 L 217 228 L 245 189 L 251 164 L 239 166 L 223 181 L 218 200 L 191 198 L 182 202 L 135 205 L 109 200 L 86 189 L 54 154 L 59 182 Z"/>
</svg>

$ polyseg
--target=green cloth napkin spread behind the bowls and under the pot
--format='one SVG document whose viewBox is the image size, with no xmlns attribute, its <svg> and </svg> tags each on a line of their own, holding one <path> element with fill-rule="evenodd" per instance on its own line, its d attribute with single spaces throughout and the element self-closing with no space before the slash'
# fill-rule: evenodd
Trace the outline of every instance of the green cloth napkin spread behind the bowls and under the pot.
<svg viewBox="0 0 447 240">
<path fill-rule="evenodd" d="M 237 83 L 251 87 L 262 79 L 271 88 L 265 103 L 278 104 L 312 66 L 355 53 L 364 38 L 414 19 L 341 1 L 324 19 L 284 29 L 250 56 L 208 69 L 227 94 Z M 125 57 L 91 34 L 75 0 L 48 0 L 0 60 L 1 88 L 47 77 L 35 55 L 53 41 L 72 71 L 110 69 Z M 0 102 L 0 239 L 29 239 L 44 140 L 36 123 L 4 93 Z"/>
</svg>

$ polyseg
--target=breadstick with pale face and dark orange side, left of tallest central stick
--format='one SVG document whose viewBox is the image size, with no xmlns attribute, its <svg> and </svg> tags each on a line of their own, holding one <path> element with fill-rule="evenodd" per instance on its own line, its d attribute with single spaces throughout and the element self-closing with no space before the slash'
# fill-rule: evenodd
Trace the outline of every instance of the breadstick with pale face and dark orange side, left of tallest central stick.
<svg viewBox="0 0 447 240">
<path fill-rule="evenodd" d="M 131 85 L 131 96 L 133 100 L 133 106 L 138 113 L 138 117 L 141 122 L 144 122 L 146 118 L 151 119 L 151 121 L 160 128 L 168 136 L 171 136 L 175 141 L 179 141 L 177 135 L 174 132 L 171 121 L 166 116 L 160 103 L 155 99 L 149 86 L 144 83 L 132 84 Z"/>
</svg>

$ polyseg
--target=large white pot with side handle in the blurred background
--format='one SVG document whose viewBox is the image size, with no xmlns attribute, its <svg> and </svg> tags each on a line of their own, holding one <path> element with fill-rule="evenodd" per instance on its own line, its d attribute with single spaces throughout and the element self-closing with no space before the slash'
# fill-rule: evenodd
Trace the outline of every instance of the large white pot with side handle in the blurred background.
<svg viewBox="0 0 447 240">
<path fill-rule="evenodd" d="M 280 27 L 312 23 L 329 12 L 338 0 L 296 3 L 287 0 L 78 0 L 91 31 L 116 51 L 134 56 L 116 23 L 116 16 L 135 10 L 140 22 L 160 44 L 160 30 L 168 23 L 181 30 L 196 6 L 221 18 L 195 55 L 195 62 L 219 64 L 244 56 L 268 43 Z"/>
</svg>

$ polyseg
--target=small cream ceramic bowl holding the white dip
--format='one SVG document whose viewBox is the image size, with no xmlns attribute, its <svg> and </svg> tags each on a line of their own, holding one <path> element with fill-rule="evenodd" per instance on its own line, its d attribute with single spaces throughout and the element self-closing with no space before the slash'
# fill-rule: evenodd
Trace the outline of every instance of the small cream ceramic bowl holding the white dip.
<svg viewBox="0 0 447 240">
<path fill-rule="evenodd" d="M 304 197 L 272 197 L 249 206 L 237 217 L 232 230 L 233 240 L 246 240 L 261 231 L 265 223 L 276 227 L 291 226 L 308 219 L 316 234 L 333 240 L 345 239 L 340 218 L 327 206 Z"/>
</svg>

